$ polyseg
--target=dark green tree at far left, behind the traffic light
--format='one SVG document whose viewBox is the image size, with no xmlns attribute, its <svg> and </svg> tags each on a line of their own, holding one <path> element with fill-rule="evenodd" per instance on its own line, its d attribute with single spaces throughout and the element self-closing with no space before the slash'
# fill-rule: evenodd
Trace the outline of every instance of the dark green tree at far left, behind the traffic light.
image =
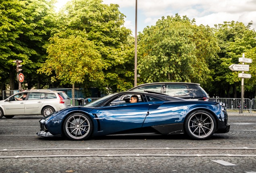
<svg viewBox="0 0 256 173">
<path fill-rule="evenodd" d="M 10 89 L 14 90 L 16 63 L 23 60 L 22 68 L 28 87 L 36 84 L 37 68 L 44 61 L 43 45 L 50 38 L 54 22 L 53 3 L 56 0 L 4 0 L 0 1 L 0 76 L 6 83 L 10 76 Z M 6 75 L 9 74 L 9 75 Z M 35 77 L 35 80 L 32 77 Z"/>
</svg>

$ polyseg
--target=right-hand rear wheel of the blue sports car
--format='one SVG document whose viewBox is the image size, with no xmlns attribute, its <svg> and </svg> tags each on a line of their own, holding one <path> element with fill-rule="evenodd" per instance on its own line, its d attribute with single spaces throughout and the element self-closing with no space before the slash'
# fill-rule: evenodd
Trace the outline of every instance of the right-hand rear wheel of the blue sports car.
<svg viewBox="0 0 256 173">
<path fill-rule="evenodd" d="M 198 110 L 190 113 L 184 123 L 186 135 L 192 139 L 203 140 L 213 136 L 216 121 L 208 111 Z"/>
</svg>

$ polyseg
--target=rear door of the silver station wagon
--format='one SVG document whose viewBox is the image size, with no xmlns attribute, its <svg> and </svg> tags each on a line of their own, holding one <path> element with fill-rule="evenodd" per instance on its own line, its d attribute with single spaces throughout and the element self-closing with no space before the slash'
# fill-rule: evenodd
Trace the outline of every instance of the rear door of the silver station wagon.
<svg viewBox="0 0 256 173">
<path fill-rule="evenodd" d="M 41 107 L 45 101 L 45 93 L 29 93 L 25 104 L 26 115 L 41 114 Z"/>
</svg>

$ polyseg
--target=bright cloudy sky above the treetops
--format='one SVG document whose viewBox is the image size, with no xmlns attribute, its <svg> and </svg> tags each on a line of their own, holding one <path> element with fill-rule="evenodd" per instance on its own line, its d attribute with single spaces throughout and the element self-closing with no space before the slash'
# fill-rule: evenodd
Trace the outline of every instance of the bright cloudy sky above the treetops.
<svg viewBox="0 0 256 173">
<path fill-rule="evenodd" d="M 58 10 L 70 0 L 58 0 Z M 256 29 L 256 0 L 137 0 L 137 32 L 142 32 L 147 26 L 155 25 L 162 16 L 187 16 L 195 19 L 196 24 L 223 24 L 225 21 L 243 22 Z M 136 0 L 103 0 L 103 4 L 118 4 L 119 10 L 126 18 L 124 26 L 135 33 Z"/>
</svg>

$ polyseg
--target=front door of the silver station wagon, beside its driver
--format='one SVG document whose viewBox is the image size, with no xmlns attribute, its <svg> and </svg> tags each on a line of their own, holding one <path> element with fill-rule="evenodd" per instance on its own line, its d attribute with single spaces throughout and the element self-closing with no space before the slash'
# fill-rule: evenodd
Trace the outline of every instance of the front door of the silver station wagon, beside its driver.
<svg viewBox="0 0 256 173">
<path fill-rule="evenodd" d="M 15 100 L 15 98 L 22 98 L 22 96 L 23 94 L 18 93 L 4 102 L 6 115 L 24 115 L 26 100 Z"/>
</svg>

